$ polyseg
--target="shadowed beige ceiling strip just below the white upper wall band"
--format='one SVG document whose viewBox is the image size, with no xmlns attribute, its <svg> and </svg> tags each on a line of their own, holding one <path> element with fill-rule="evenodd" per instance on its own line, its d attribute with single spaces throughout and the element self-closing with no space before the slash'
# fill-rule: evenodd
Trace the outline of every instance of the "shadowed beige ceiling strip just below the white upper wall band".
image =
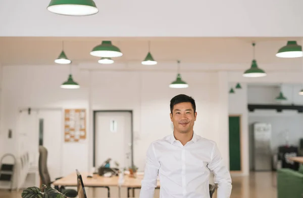
<svg viewBox="0 0 303 198">
<path fill-rule="evenodd" d="M 181 63 L 249 65 L 252 59 L 251 42 L 256 41 L 256 59 L 259 65 L 285 65 L 289 69 L 299 69 L 302 65 L 301 58 L 275 57 L 275 53 L 288 39 L 278 37 L 0 37 L 0 62 L 2 65 L 55 64 L 54 60 L 59 56 L 64 41 L 65 53 L 73 63 L 95 63 L 98 58 L 89 52 L 103 39 L 111 39 L 123 52 L 122 57 L 115 58 L 118 63 L 143 60 L 150 41 L 151 54 L 159 63 L 179 59 Z M 301 44 L 301 38 L 291 39 Z"/>
</svg>

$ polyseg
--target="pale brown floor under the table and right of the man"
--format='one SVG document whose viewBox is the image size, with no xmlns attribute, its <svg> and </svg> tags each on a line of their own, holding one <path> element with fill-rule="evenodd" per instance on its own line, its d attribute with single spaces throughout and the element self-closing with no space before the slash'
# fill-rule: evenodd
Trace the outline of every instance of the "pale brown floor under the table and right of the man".
<svg viewBox="0 0 303 198">
<path fill-rule="evenodd" d="M 249 177 L 232 177 L 232 193 L 230 198 L 260 198 L 260 197 L 277 197 L 276 193 L 276 173 L 274 172 L 258 172 L 251 173 Z M 106 193 L 102 191 L 96 191 L 95 196 L 89 195 L 88 197 L 103 198 L 106 197 Z M 126 196 L 126 190 L 122 191 L 122 195 Z M 0 198 L 19 198 L 20 192 L 9 192 L 6 190 L 0 190 Z M 139 195 L 139 190 L 136 191 L 136 197 Z M 155 193 L 156 197 L 159 197 L 159 191 Z M 112 194 L 112 197 L 115 197 Z M 118 197 L 118 196 L 117 196 Z M 214 194 L 213 198 L 217 197 Z"/>
</svg>

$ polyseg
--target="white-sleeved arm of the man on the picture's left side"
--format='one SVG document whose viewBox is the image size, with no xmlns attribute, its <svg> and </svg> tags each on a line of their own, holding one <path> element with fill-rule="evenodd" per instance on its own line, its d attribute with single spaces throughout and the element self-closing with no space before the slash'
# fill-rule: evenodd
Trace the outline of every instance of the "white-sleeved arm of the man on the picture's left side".
<svg viewBox="0 0 303 198">
<path fill-rule="evenodd" d="M 151 143 L 146 153 L 144 178 L 141 182 L 140 198 L 153 198 L 157 187 L 160 163 L 157 160 L 154 144 Z"/>
</svg>

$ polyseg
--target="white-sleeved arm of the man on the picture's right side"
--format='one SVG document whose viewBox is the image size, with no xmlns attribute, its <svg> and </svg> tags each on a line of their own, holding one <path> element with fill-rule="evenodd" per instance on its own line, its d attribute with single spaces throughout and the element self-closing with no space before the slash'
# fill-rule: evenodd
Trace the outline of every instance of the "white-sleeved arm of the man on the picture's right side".
<svg viewBox="0 0 303 198">
<path fill-rule="evenodd" d="M 218 183 L 217 197 L 229 198 L 232 189 L 231 177 L 227 167 L 224 165 L 221 153 L 216 143 L 214 144 L 212 159 L 208 167 L 215 175 L 215 183 Z"/>
</svg>

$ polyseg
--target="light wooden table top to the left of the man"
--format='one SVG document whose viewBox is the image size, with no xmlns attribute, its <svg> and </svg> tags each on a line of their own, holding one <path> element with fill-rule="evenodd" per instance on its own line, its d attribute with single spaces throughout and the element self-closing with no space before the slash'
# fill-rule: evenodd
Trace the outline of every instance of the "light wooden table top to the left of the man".
<svg viewBox="0 0 303 198">
<path fill-rule="evenodd" d="M 100 186 L 118 186 L 119 185 L 119 177 L 104 177 L 95 175 L 92 178 L 88 178 L 90 175 L 87 172 L 81 172 L 81 176 L 83 179 L 84 187 L 100 187 Z M 129 177 L 128 175 L 124 176 L 124 181 L 122 183 L 122 187 L 141 187 L 141 180 L 143 179 L 143 175 L 138 175 L 136 178 Z M 72 173 L 58 179 L 53 182 L 53 185 L 62 185 L 62 186 L 77 186 L 77 174 Z M 157 186 L 160 187 L 160 181 L 158 180 Z"/>
</svg>

